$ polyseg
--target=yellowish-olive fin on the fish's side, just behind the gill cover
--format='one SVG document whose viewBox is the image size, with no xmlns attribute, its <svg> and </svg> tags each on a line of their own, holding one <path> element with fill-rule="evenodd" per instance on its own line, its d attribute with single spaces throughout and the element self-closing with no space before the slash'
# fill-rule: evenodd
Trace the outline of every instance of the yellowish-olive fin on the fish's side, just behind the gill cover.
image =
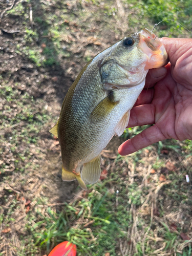
<svg viewBox="0 0 192 256">
<path fill-rule="evenodd" d="M 113 92 L 111 92 L 108 96 L 102 99 L 91 112 L 91 120 L 95 122 L 103 120 L 106 116 L 108 116 L 108 114 L 115 108 L 117 104 L 118 101 L 114 101 L 114 95 Z"/>
</svg>

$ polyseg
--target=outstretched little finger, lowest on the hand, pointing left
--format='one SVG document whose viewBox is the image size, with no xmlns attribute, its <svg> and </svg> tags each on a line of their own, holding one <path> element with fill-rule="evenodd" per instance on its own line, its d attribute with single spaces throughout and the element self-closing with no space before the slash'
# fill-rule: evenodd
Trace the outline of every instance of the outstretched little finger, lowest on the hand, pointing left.
<svg viewBox="0 0 192 256">
<path fill-rule="evenodd" d="M 118 152 L 125 156 L 140 150 L 143 147 L 149 146 L 155 142 L 166 139 L 161 133 L 158 126 L 155 124 L 130 140 L 125 141 L 119 146 Z"/>
</svg>

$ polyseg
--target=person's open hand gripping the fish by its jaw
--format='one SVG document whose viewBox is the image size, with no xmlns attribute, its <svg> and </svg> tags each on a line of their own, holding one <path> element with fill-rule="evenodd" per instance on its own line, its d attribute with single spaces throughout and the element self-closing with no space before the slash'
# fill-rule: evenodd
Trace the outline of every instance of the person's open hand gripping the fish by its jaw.
<svg viewBox="0 0 192 256">
<path fill-rule="evenodd" d="M 166 70 L 148 72 L 145 88 L 131 110 L 127 127 L 154 125 L 121 144 L 120 155 L 164 139 L 192 140 L 192 39 L 163 37 L 160 40 L 170 62 Z"/>
</svg>

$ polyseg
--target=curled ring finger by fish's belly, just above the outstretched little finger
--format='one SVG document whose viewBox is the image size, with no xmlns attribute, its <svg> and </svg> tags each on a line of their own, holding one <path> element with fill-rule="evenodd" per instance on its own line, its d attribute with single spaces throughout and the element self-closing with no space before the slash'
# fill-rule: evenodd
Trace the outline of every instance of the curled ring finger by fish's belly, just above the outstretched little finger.
<svg viewBox="0 0 192 256">
<path fill-rule="evenodd" d="M 130 121 L 127 127 L 153 124 L 155 122 L 155 108 L 152 104 L 136 106 L 131 110 Z"/>
</svg>

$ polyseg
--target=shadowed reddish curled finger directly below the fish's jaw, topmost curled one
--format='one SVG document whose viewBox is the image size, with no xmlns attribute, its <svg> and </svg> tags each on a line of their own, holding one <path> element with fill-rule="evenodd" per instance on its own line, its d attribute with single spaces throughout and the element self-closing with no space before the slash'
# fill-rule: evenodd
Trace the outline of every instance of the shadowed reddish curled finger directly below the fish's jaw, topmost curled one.
<svg viewBox="0 0 192 256">
<path fill-rule="evenodd" d="M 163 77 L 166 76 L 167 70 L 165 67 L 158 69 L 150 69 L 146 75 L 145 88 L 151 88 L 154 84 L 160 81 Z"/>
</svg>

